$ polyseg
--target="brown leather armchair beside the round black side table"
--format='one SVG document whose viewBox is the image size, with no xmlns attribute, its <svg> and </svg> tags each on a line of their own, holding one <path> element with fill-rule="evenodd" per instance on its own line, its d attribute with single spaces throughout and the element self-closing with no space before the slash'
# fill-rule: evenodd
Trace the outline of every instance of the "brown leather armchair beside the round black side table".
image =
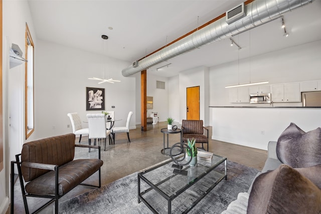
<svg viewBox="0 0 321 214">
<path fill-rule="evenodd" d="M 207 135 L 204 135 L 204 129 Z M 194 138 L 196 143 L 202 143 L 201 149 L 204 149 L 204 143 L 207 144 L 209 150 L 209 130 L 203 126 L 203 120 L 182 120 L 182 139 L 187 142 L 187 139 Z"/>
</svg>

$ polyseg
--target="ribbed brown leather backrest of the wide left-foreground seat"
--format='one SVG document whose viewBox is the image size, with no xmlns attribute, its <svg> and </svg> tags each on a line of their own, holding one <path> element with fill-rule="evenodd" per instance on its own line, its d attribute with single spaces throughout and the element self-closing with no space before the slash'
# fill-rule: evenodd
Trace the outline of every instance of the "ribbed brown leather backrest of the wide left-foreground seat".
<svg viewBox="0 0 321 214">
<path fill-rule="evenodd" d="M 26 167 L 24 161 L 58 166 L 68 163 L 75 156 L 75 138 L 75 134 L 65 134 L 25 143 L 21 152 L 21 170 L 25 181 L 31 181 L 49 170 Z"/>
</svg>

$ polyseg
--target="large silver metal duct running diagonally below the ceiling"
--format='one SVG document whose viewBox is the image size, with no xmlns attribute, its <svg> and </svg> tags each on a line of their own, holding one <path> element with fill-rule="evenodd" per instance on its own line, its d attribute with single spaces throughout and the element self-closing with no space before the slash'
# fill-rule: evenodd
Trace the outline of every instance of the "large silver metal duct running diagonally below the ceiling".
<svg viewBox="0 0 321 214">
<path fill-rule="evenodd" d="M 158 63 L 185 54 L 215 41 L 225 40 L 249 29 L 277 19 L 282 14 L 311 3 L 313 0 L 256 0 L 245 6 L 246 17 L 228 25 L 223 17 L 190 34 L 176 43 L 140 60 L 136 68 L 129 66 L 121 71 L 124 77 L 145 70 Z"/>
</svg>

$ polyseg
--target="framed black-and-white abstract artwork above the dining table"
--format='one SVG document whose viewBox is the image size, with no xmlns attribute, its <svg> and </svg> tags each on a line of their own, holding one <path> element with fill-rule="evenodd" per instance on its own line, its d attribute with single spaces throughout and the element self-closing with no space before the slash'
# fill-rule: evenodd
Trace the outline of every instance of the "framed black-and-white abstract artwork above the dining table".
<svg viewBox="0 0 321 214">
<path fill-rule="evenodd" d="M 86 110 L 105 110 L 105 89 L 86 87 Z"/>
</svg>

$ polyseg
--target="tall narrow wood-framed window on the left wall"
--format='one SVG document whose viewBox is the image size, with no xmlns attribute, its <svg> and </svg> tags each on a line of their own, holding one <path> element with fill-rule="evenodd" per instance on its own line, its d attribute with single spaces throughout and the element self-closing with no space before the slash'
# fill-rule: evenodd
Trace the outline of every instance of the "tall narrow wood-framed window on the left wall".
<svg viewBox="0 0 321 214">
<path fill-rule="evenodd" d="M 26 139 L 34 132 L 34 42 L 26 23 Z"/>
</svg>

